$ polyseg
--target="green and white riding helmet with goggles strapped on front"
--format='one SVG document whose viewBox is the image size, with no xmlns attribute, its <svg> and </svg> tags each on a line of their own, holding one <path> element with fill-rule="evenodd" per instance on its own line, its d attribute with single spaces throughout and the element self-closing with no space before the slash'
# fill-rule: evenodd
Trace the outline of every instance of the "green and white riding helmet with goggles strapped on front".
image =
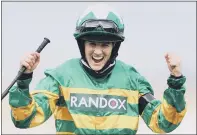
<svg viewBox="0 0 197 135">
<path fill-rule="evenodd" d="M 76 39 L 96 41 L 124 41 L 124 23 L 121 16 L 106 4 L 88 7 L 76 23 Z"/>
</svg>

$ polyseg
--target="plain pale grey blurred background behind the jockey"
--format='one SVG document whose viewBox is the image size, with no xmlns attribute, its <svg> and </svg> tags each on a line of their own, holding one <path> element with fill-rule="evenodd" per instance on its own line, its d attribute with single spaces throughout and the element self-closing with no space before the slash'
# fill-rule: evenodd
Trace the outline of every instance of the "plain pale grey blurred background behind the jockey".
<svg viewBox="0 0 197 135">
<path fill-rule="evenodd" d="M 196 133 L 196 3 L 195 2 L 105 2 L 115 8 L 125 23 L 125 41 L 118 59 L 134 66 L 162 99 L 169 71 L 167 52 L 182 58 L 187 77 L 187 113 L 172 134 Z M 2 91 L 19 70 L 20 59 L 35 51 L 44 37 L 51 40 L 41 53 L 31 90 L 44 77 L 44 70 L 80 57 L 73 37 L 81 13 L 96 2 L 2 2 Z M 102 9 L 101 9 L 102 10 Z M 53 116 L 31 129 L 18 129 L 10 116 L 8 95 L 2 101 L 2 134 L 55 134 Z M 132 122 L 132 121 L 131 121 Z M 153 134 L 140 118 L 137 134 Z"/>
</svg>

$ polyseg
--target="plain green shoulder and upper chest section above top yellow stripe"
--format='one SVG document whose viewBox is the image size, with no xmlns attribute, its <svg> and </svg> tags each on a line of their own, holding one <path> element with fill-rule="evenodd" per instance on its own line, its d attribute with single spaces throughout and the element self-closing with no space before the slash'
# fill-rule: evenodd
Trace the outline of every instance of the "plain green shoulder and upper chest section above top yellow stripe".
<svg viewBox="0 0 197 135">
<path fill-rule="evenodd" d="M 121 61 L 116 62 L 109 78 L 99 80 L 91 77 L 82 69 L 80 59 L 69 60 L 55 70 L 47 70 L 45 74 L 53 76 L 64 87 L 89 88 L 93 90 L 118 88 L 135 91 L 138 89 L 136 80 L 138 80 L 139 74 L 136 70 L 133 70 L 133 67 L 129 67 Z"/>
</svg>

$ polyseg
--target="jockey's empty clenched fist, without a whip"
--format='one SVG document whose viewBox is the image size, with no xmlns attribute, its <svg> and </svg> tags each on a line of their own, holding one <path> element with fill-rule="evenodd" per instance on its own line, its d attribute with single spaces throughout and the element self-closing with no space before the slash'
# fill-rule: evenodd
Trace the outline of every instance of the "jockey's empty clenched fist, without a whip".
<svg viewBox="0 0 197 135">
<path fill-rule="evenodd" d="M 171 72 L 171 75 L 175 77 L 179 77 L 182 75 L 181 73 L 181 60 L 178 56 L 172 53 L 167 53 L 165 55 L 165 59 L 168 65 L 168 69 Z"/>
</svg>

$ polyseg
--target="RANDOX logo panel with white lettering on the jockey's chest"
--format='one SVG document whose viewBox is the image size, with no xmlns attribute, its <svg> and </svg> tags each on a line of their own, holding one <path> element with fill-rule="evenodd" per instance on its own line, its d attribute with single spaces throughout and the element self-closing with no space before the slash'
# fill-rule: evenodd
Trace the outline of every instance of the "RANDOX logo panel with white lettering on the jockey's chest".
<svg viewBox="0 0 197 135">
<path fill-rule="evenodd" d="M 126 113 L 127 97 L 70 93 L 70 109 Z"/>
</svg>

